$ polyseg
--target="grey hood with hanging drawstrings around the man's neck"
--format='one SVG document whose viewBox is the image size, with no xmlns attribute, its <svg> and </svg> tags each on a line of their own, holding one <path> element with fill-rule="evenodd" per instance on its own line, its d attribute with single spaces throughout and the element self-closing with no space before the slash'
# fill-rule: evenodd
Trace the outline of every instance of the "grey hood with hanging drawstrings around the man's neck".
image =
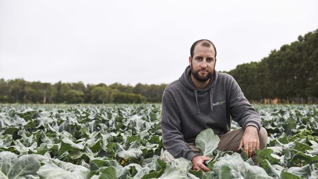
<svg viewBox="0 0 318 179">
<path fill-rule="evenodd" d="M 194 86 L 194 84 L 192 83 L 190 79 L 190 74 L 191 74 L 191 67 L 188 66 L 185 68 L 179 80 L 184 87 L 186 87 L 188 90 L 193 91 L 196 102 L 197 102 L 197 113 L 200 113 L 199 103 L 198 103 L 198 91 L 209 92 L 210 107 L 211 107 L 211 111 L 213 111 L 213 87 L 215 86 L 216 81 L 218 79 L 218 72 L 214 69 L 213 74 L 211 75 L 211 78 L 210 78 L 210 82 L 204 89 L 198 89 Z"/>
</svg>

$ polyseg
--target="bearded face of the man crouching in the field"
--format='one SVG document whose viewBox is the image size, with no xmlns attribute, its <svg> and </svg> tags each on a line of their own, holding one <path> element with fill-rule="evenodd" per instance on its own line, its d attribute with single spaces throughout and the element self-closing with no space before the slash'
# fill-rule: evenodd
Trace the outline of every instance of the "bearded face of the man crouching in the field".
<svg viewBox="0 0 318 179">
<path fill-rule="evenodd" d="M 216 59 L 213 46 L 202 46 L 197 44 L 193 50 L 193 59 L 189 57 L 191 73 L 195 79 L 205 82 L 213 74 Z"/>
</svg>

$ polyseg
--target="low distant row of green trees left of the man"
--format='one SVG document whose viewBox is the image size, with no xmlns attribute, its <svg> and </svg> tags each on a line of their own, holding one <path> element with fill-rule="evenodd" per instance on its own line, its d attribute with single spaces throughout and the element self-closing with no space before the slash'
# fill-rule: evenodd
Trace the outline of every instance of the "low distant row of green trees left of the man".
<svg viewBox="0 0 318 179">
<path fill-rule="evenodd" d="M 167 85 L 135 87 L 114 83 L 107 86 L 78 83 L 55 84 L 0 79 L 0 103 L 160 103 Z"/>
</svg>

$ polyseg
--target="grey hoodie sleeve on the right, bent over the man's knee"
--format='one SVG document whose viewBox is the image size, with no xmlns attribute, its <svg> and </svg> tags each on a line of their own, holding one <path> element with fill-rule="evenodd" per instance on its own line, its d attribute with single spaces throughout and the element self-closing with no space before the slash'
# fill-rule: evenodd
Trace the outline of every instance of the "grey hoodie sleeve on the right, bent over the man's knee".
<svg viewBox="0 0 318 179">
<path fill-rule="evenodd" d="M 243 128 L 247 126 L 255 126 L 259 132 L 261 129 L 261 119 L 254 107 L 245 98 L 241 88 L 237 84 L 234 78 L 232 78 L 230 97 L 229 97 L 229 108 L 232 119 Z"/>
</svg>

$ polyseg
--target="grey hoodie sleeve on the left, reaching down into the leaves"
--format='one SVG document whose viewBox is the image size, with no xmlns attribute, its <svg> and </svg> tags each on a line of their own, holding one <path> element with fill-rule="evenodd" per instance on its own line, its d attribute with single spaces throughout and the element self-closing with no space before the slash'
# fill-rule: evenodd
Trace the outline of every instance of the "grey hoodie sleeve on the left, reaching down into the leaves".
<svg viewBox="0 0 318 179">
<path fill-rule="evenodd" d="M 196 156 L 184 141 L 181 133 L 181 117 L 172 93 L 165 90 L 162 97 L 161 130 L 163 147 L 174 157 L 192 160 Z"/>
</svg>

